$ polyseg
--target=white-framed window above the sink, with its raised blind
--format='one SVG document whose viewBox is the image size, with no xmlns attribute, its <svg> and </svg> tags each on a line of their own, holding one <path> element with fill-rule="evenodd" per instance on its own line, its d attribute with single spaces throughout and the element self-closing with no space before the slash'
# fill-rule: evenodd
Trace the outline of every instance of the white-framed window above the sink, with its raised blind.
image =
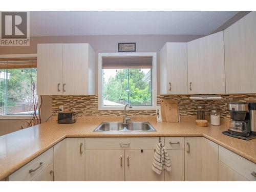
<svg viewBox="0 0 256 192">
<path fill-rule="evenodd" d="M 156 53 L 99 53 L 99 110 L 155 110 Z"/>
</svg>

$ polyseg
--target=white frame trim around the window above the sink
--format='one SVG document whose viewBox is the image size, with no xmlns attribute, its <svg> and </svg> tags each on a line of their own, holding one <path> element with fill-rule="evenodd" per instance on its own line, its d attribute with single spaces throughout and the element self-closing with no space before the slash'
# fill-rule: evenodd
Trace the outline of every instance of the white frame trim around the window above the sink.
<svg viewBox="0 0 256 192">
<path fill-rule="evenodd" d="M 156 110 L 157 106 L 157 53 L 99 53 L 98 54 L 98 104 L 99 110 L 123 110 L 123 106 L 102 106 L 102 56 L 152 56 L 152 106 L 133 106 L 127 110 Z"/>
</svg>

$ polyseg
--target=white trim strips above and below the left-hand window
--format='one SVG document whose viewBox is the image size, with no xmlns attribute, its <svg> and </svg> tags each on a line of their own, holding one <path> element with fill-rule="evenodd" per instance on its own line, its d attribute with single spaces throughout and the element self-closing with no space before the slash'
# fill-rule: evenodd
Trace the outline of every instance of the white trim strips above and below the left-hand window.
<svg viewBox="0 0 256 192">
<path fill-rule="evenodd" d="M 37 57 L 36 53 L 32 54 L 6 54 L 0 55 L 0 58 L 26 58 L 26 57 Z M 39 95 L 38 95 L 39 96 Z M 31 115 L 0 115 L 0 119 L 30 119 Z"/>
</svg>

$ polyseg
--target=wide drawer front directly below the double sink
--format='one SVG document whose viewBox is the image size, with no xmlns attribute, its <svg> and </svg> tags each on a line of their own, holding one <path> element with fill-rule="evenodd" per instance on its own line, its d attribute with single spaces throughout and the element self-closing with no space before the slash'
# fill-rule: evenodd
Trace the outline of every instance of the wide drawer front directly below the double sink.
<svg viewBox="0 0 256 192">
<path fill-rule="evenodd" d="M 86 138 L 86 150 L 152 150 L 158 142 L 158 137 Z"/>
</svg>

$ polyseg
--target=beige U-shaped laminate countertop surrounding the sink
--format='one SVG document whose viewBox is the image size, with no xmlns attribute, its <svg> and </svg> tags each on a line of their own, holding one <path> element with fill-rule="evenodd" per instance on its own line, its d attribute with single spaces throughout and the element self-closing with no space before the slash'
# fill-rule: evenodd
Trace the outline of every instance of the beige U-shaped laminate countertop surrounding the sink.
<svg viewBox="0 0 256 192">
<path fill-rule="evenodd" d="M 149 121 L 156 132 L 144 133 L 105 133 L 93 132 L 102 121 L 121 121 L 116 117 L 78 118 L 74 124 L 47 122 L 24 130 L 0 136 L 0 180 L 24 166 L 38 155 L 66 137 L 196 137 L 203 136 L 230 151 L 256 163 L 256 139 L 246 141 L 222 134 L 227 124 L 199 127 L 194 120 L 181 120 L 179 123 L 156 122 L 156 118 L 138 117 L 134 121 Z"/>
</svg>

